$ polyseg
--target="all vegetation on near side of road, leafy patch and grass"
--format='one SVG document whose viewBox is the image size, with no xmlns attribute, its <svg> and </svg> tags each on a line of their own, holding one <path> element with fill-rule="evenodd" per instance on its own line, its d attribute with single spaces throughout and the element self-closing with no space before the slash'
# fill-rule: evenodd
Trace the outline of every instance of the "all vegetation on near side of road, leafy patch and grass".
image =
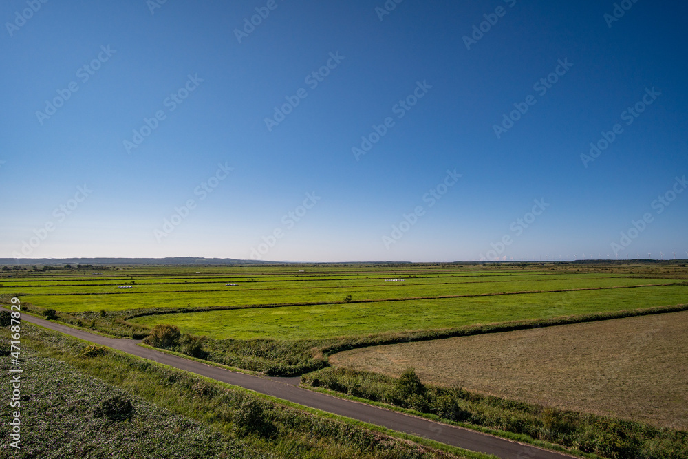
<svg viewBox="0 0 688 459">
<path fill-rule="evenodd" d="M 6 330 L 0 336 L 9 339 Z M 408 441 L 412 436 L 297 409 L 115 350 L 88 356 L 84 341 L 28 323 L 22 325 L 22 344 L 22 364 L 41 371 L 25 372 L 28 449 L 12 457 L 489 457 L 423 440 L 416 444 Z M 130 421 L 112 425 L 92 415 L 113 393 L 133 401 Z"/>
</svg>

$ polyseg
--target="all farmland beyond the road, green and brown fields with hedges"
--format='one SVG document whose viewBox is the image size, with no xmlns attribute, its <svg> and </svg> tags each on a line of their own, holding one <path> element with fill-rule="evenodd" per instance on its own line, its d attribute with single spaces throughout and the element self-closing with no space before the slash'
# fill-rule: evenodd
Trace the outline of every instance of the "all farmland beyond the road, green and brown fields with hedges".
<svg viewBox="0 0 688 459">
<path fill-rule="evenodd" d="M 2 270 L 0 301 L 15 296 L 117 337 L 175 326 L 158 347 L 519 441 L 688 451 L 684 261 Z M 427 389 L 400 398 L 411 367 Z"/>
</svg>

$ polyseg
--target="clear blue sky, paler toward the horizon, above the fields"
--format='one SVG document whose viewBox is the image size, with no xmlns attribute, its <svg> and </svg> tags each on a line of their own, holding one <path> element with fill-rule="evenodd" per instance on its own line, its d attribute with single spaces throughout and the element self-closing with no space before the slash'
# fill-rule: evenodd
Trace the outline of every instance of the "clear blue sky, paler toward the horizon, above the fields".
<svg viewBox="0 0 688 459">
<path fill-rule="evenodd" d="M 683 3 L 154 2 L 3 2 L 0 257 L 687 256 Z"/>
</svg>

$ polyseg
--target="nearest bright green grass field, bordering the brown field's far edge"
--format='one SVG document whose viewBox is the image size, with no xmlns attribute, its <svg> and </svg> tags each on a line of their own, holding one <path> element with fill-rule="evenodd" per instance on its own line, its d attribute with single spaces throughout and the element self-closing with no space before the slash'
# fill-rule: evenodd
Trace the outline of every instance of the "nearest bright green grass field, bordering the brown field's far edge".
<svg viewBox="0 0 688 459">
<path fill-rule="evenodd" d="M 323 339 L 403 330 L 456 328 L 475 323 L 551 318 L 650 308 L 685 302 L 688 286 L 640 287 L 565 293 L 413 301 L 283 306 L 164 314 L 133 323 L 171 323 L 214 339 Z"/>
</svg>

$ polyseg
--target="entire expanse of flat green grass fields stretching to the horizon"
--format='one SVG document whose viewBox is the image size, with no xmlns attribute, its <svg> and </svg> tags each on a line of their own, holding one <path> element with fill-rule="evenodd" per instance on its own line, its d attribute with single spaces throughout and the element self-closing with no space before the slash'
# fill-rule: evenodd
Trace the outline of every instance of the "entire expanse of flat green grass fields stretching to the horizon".
<svg viewBox="0 0 688 459">
<path fill-rule="evenodd" d="M 98 273 L 2 273 L 0 296 L 77 315 L 105 310 L 126 318 L 152 308 L 187 308 L 129 322 L 171 323 L 213 339 L 278 340 L 548 319 L 688 298 L 687 270 L 678 265 L 137 267 Z M 266 305 L 278 307 L 260 308 Z M 217 307 L 241 310 L 195 311 Z"/>
</svg>

